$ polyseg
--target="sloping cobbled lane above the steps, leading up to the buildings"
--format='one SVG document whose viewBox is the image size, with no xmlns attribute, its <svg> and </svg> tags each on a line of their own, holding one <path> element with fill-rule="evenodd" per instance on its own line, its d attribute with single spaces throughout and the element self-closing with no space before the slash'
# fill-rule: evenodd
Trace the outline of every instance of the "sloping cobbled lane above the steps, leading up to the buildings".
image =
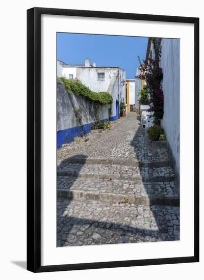
<svg viewBox="0 0 204 280">
<path fill-rule="evenodd" d="M 113 160 L 131 164 L 170 161 L 167 148 L 152 149 L 146 130 L 139 126 L 135 113 L 114 122 L 112 128 L 105 133 L 91 132 L 89 139 L 88 142 L 72 142 L 58 149 L 58 164 L 66 159 L 73 162 L 77 158 L 82 158 L 84 162 L 97 158 L 101 161 Z"/>
</svg>

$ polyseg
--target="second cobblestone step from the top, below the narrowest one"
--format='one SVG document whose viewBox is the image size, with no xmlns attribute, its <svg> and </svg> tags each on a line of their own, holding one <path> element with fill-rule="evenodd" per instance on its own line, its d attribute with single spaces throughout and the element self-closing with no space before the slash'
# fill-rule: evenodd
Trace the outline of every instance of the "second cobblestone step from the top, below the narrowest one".
<svg viewBox="0 0 204 280">
<path fill-rule="evenodd" d="M 171 166 L 136 167 L 119 164 L 68 163 L 58 166 L 58 176 L 74 176 L 108 180 L 132 180 L 134 182 L 173 181 L 175 176 Z"/>
</svg>

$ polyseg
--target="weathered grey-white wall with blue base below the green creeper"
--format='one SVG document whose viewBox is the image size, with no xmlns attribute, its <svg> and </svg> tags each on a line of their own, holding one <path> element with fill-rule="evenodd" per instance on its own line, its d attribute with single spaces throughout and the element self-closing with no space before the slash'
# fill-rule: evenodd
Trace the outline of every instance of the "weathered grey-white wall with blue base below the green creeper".
<svg viewBox="0 0 204 280">
<path fill-rule="evenodd" d="M 100 120 L 108 120 L 108 108 L 110 104 L 99 105 L 98 115 Z M 82 115 L 82 127 L 80 128 L 74 114 L 74 109 L 79 109 Z M 113 117 L 112 117 L 113 118 Z M 114 119 L 114 118 L 113 118 Z M 111 119 L 112 120 L 112 119 Z M 95 122 L 93 102 L 81 96 L 67 93 L 64 83 L 57 81 L 57 147 L 70 143 L 75 136 L 83 135 L 91 130 Z"/>
</svg>

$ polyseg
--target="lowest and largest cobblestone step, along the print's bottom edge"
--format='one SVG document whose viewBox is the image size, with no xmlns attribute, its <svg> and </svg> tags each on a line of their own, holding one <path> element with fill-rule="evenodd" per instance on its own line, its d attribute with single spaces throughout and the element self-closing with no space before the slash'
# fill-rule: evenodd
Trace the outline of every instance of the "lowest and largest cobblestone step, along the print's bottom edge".
<svg viewBox="0 0 204 280">
<path fill-rule="evenodd" d="M 57 246 L 179 240 L 179 207 L 58 199 Z"/>
</svg>

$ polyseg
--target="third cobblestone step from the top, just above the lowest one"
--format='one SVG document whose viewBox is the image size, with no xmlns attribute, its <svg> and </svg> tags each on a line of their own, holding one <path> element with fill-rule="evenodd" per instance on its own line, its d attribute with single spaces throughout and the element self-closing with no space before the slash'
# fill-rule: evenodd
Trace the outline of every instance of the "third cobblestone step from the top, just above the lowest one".
<svg viewBox="0 0 204 280">
<path fill-rule="evenodd" d="M 179 206 L 174 182 L 141 182 L 130 180 L 84 179 L 58 176 L 57 194 L 74 200 L 96 200 L 136 203 L 138 205 Z"/>
</svg>

